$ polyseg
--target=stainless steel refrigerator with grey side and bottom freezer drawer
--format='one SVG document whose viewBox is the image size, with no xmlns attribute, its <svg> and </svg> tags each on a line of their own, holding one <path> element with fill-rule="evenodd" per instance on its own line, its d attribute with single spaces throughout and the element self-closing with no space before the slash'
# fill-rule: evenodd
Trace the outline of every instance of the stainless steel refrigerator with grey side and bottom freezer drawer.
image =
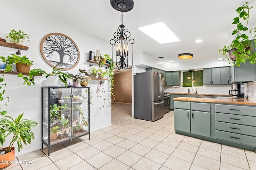
<svg viewBox="0 0 256 170">
<path fill-rule="evenodd" d="M 156 121 L 164 117 L 164 74 L 136 73 L 134 78 L 134 118 Z"/>
</svg>

